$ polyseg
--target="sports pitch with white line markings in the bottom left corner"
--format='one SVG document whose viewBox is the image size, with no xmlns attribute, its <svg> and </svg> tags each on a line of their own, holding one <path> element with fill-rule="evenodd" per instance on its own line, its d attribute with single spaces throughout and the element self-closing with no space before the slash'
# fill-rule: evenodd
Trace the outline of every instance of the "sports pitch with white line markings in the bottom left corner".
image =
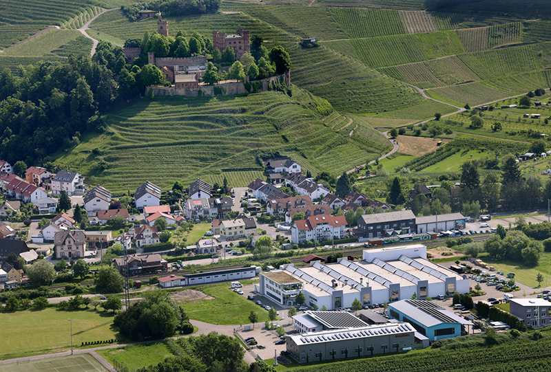
<svg viewBox="0 0 551 372">
<path fill-rule="evenodd" d="M 30 360 L 0 365 L 0 372 L 104 372 L 106 369 L 90 354 L 63 358 Z"/>
</svg>

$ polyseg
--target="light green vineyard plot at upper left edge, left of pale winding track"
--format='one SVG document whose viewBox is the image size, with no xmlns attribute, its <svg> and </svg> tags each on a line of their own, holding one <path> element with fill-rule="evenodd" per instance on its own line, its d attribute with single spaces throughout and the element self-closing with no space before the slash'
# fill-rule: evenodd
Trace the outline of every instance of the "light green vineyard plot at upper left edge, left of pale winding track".
<svg viewBox="0 0 551 372">
<path fill-rule="evenodd" d="M 43 56 L 56 50 L 61 45 L 74 41 L 81 32 L 76 30 L 50 30 L 45 34 L 41 34 L 34 39 L 25 41 L 15 47 L 12 47 L 5 52 L 5 56 Z"/>
</svg>

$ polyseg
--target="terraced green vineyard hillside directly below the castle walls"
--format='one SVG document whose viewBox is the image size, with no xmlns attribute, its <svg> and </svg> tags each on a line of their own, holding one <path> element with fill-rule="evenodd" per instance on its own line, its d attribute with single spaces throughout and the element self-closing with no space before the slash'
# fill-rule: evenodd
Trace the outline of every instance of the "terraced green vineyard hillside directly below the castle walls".
<svg viewBox="0 0 551 372">
<path fill-rule="evenodd" d="M 297 91 L 296 97 L 300 96 Z M 135 189 L 145 179 L 162 188 L 176 180 L 187 183 L 203 176 L 221 184 L 227 173 L 222 170 L 258 168 L 255 156 L 261 150 L 300 153 L 318 171 L 335 175 L 349 164 L 386 151 L 374 131 L 373 138 L 364 138 L 361 144 L 335 135 L 318 113 L 299 105 L 298 98 L 265 92 L 143 100 L 107 116 L 109 134 L 59 153 L 56 164 L 93 175 L 94 183 L 105 184 L 117 195 Z M 97 168 L 96 155 L 91 153 L 96 147 L 110 164 L 104 171 Z M 144 167 L 144 162 L 150 166 Z M 252 179 L 245 177 L 256 175 L 241 174 L 239 183 L 246 186 Z"/>
</svg>

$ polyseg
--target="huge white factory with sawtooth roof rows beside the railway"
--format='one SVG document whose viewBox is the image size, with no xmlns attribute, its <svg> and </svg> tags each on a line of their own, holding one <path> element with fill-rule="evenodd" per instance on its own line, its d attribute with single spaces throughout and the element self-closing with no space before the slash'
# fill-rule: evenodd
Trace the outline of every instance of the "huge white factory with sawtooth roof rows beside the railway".
<svg viewBox="0 0 551 372">
<path fill-rule="evenodd" d="M 439 294 L 466 293 L 469 281 L 426 259 L 421 244 L 364 250 L 362 261 L 339 259 L 337 263 L 311 266 L 282 265 L 260 273 L 259 292 L 282 305 L 296 305 L 299 292 L 306 305 L 328 310 L 352 307 L 358 298 L 364 305 L 411 298 L 436 298 Z"/>
</svg>

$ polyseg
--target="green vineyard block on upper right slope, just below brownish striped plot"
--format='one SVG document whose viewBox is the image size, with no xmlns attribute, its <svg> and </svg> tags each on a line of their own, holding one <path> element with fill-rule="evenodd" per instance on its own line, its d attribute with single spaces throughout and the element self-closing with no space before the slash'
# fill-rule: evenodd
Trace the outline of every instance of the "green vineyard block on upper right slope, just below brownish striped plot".
<svg viewBox="0 0 551 372">
<path fill-rule="evenodd" d="M 355 39 L 351 43 L 361 60 L 371 67 L 404 65 L 463 53 L 457 34 L 450 31 Z"/>
</svg>

